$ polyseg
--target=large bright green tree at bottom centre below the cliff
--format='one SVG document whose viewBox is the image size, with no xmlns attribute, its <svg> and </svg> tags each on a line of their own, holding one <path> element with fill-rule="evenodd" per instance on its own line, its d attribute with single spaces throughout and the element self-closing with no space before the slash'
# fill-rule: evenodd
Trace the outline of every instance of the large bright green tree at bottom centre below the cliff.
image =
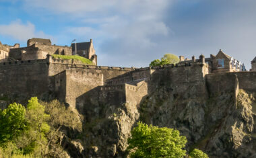
<svg viewBox="0 0 256 158">
<path fill-rule="evenodd" d="M 179 130 L 148 126 L 142 122 L 131 130 L 131 139 L 128 139 L 131 157 L 184 157 L 183 150 L 187 139 L 180 136 Z"/>
</svg>

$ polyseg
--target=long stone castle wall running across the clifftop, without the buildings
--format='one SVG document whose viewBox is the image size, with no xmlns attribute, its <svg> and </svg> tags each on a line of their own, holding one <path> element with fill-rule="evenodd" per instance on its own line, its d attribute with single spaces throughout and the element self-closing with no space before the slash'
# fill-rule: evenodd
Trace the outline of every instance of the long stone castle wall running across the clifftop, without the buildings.
<svg viewBox="0 0 256 158">
<path fill-rule="evenodd" d="M 95 93 L 115 104 L 138 105 L 160 85 L 175 89 L 177 94 L 195 89 L 197 95 L 207 96 L 233 90 L 237 78 L 239 88 L 256 89 L 256 72 L 207 74 L 207 64 L 200 62 L 141 69 L 76 64 L 51 56 L 41 60 L 0 63 L 3 87 L 0 93 L 16 93 L 28 98 L 51 92 L 72 107 L 82 107 L 83 98 L 96 99 Z"/>
</svg>

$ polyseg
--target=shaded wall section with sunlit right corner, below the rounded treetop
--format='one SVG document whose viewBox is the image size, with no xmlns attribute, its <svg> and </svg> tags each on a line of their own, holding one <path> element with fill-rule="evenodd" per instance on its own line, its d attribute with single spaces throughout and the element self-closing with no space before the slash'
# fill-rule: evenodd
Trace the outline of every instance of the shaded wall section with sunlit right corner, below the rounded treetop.
<svg viewBox="0 0 256 158">
<path fill-rule="evenodd" d="M 165 67 L 152 67 L 151 79 L 148 83 L 149 94 L 158 87 L 165 86 L 174 93 L 183 94 L 194 89 L 195 96 L 206 96 L 205 74 L 208 73 L 205 63 L 191 63 L 178 65 L 165 65 Z"/>
</svg>

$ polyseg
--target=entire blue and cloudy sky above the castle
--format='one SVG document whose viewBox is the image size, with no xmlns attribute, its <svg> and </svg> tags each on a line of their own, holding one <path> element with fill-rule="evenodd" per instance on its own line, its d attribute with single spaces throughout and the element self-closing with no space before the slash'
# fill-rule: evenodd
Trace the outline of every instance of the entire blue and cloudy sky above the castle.
<svg viewBox="0 0 256 158">
<path fill-rule="evenodd" d="M 255 0 L 0 0 L 0 41 L 92 38 L 98 65 L 148 67 L 166 53 L 191 58 L 220 49 L 251 69 Z"/>
</svg>

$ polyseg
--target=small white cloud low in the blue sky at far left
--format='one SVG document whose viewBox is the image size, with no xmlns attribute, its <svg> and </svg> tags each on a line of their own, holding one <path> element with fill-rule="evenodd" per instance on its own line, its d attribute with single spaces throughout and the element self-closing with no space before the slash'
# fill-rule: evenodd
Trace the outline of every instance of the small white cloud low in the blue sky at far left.
<svg viewBox="0 0 256 158">
<path fill-rule="evenodd" d="M 20 19 L 7 25 L 0 25 L 0 34 L 8 36 L 21 42 L 26 42 L 29 38 L 50 38 L 51 36 L 44 34 L 42 31 L 36 32 L 34 24 L 27 22 L 22 24 Z"/>
</svg>

